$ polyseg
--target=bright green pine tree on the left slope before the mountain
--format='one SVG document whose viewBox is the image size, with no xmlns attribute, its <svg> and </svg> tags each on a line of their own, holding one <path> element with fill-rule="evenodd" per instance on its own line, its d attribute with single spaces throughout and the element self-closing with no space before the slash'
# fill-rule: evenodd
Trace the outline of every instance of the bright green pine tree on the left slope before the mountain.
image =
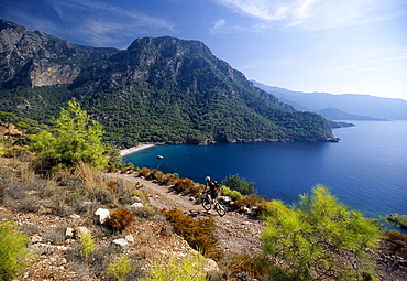
<svg viewBox="0 0 407 281">
<path fill-rule="evenodd" d="M 54 127 L 32 137 L 32 151 L 36 152 L 45 170 L 69 167 L 78 162 L 96 167 L 106 166 L 108 159 L 101 143 L 102 127 L 81 109 L 75 99 L 68 109 L 62 109 L 59 118 L 53 120 Z"/>
</svg>

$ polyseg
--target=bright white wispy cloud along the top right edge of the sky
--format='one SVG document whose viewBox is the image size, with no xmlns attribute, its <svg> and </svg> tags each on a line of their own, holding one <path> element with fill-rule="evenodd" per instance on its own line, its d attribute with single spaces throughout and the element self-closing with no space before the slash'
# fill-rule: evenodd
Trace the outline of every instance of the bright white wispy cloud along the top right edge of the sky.
<svg viewBox="0 0 407 281">
<path fill-rule="evenodd" d="M 217 0 L 261 21 L 283 26 L 329 29 L 381 21 L 407 12 L 404 0 Z M 264 25 L 264 26 L 271 26 Z"/>
</svg>

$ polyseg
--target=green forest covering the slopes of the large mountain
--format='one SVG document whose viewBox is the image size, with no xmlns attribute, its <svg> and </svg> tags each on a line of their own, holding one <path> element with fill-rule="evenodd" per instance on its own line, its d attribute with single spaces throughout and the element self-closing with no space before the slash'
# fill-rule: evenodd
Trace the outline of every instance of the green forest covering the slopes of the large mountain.
<svg viewBox="0 0 407 281">
<path fill-rule="evenodd" d="M 179 44 L 187 51 L 184 55 L 175 55 L 179 54 Z M 103 140 L 117 147 L 145 141 L 205 143 L 332 137 L 320 115 L 295 111 L 254 87 L 206 46 L 198 48 L 207 52 L 197 52 L 190 41 L 167 37 L 132 44 L 106 57 L 98 54 L 99 48 L 90 47 L 86 58 L 67 54 L 53 61 L 62 67 L 76 62 L 84 73 L 97 73 L 98 78 L 90 75 L 80 83 L 43 87 L 14 86 L 16 79 L 9 88 L 0 89 L 2 110 L 45 122 L 63 104 L 77 97 L 106 128 Z M 70 54 L 77 52 L 82 51 Z M 152 60 L 146 63 L 135 55 L 142 53 Z M 168 65 L 177 65 L 177 71 Z M 114 79 L 109 78 L 112 75 Z"/>
</svg>

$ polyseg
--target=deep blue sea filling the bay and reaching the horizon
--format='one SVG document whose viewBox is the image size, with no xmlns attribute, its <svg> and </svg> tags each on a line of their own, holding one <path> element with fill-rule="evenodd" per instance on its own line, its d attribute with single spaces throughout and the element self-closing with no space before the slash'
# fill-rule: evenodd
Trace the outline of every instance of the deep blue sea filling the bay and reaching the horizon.
<svg viewBox="0 0 407 281">
<path fill-rule="evenodd" d="M 125 161 L 197 183 L 239 174 L 254 182 L 258 195 L 287 204 L 323 184 L 367 217 L 407 215 L 407 120 L 346 122 L 355 126 L 333 130 L 339 142 L 155 145 Z"/>
</svg>

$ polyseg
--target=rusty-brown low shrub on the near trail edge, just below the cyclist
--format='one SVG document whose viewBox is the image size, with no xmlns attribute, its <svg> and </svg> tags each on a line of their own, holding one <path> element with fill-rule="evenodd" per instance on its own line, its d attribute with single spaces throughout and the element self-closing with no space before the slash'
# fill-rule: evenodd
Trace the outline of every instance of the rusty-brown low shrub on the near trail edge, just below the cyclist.
<svg viewBox="0 0 407 281">
<path fill-rule="evenodd" d="M 213 218 L 195 219 L 177 208 L 164 209 L 164 216 L 173 225 L 176 234 L 183 236 L 190 247 L 201 250 L 207 258 L 219 258 L 221 252 L 216 248 Z"/>
</svg>

